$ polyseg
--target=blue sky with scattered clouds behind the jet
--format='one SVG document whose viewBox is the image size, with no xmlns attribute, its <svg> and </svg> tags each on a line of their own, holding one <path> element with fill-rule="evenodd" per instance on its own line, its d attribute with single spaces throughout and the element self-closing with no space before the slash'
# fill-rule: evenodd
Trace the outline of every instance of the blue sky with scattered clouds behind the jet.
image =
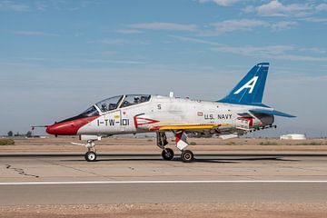
<svg viewBox="0 0 327 218">
<path fill-rule="evenodd" d="M 270 62 L 265 104 L 296 114 L 263 135 L 327 136 L 327 1 L 0 1 L 0 134 L 105 97 L 218 100 Z"/>
</svg>

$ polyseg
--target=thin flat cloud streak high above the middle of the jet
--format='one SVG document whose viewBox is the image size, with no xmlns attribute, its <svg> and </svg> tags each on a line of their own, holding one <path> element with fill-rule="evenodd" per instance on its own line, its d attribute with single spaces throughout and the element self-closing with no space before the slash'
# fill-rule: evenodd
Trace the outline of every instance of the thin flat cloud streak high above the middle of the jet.
<svg viewBox="0 0 327 218">
<path fill-rule="evenodd" d="M 130 25 L 133 29 L 148 29 L 148 30 L 177 30 L 177 31 L 195 31 L 196 25 L 182 25 L 176 23 L 143 23 Z"/>
</svg>

